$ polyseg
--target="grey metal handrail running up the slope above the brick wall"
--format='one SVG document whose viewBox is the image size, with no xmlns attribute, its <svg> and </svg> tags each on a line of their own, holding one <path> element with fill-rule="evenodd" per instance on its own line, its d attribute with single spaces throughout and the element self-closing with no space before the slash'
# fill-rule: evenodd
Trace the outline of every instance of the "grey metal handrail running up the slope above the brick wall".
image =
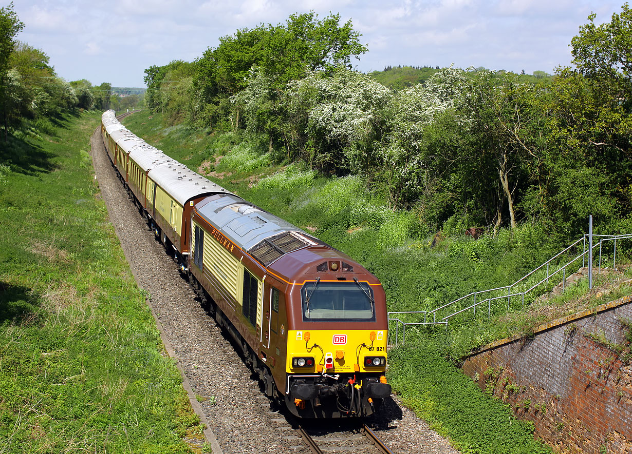
<svg viewBox="0 0 632 454">
<path fill-rule="evenodd" d="M 523 276 L 520 279 L 518 279 L 518 281 L 513 282 L 513 284 L 510 284 L 508 286 L 502 286 L 502 287 L 497 287 L 497 288 L 494 288 L 494 289 L 487 289 L 487 290 L 481 290 L 481 291 L 474 291 L 474 292 L 466 294 L 465 296 L 461 296 L 461 298 L 458 298 L 458 299 L 456 299 L 454 301 L 450 301 L 449 303 L 446 303 L 446 304 L 444 304 L 442 306 L 439 306 L 439 307 L 437 307 L 437 308 L 435 308 L 433 310 L 430 310 L 430 311 L 397 311 L 397 312 L 389 312 L 388 313 L 389 335 L 390 335 L 390 322 L 396 322 L 396 326 L 395 326 L 396 343 L 395 343 L 395 345 L 398 345 L 398 343 L 399 343 L 399 324 L 401 324 L 402 327 L 403 327 L 402 342 L 404 342 L 405 339 L 406 339 L 406 326 L 413 326 L 413 325 L 447 325 L 447 320 L 449 320 L 450 318 L 454 317 L 455 315 L 458 315 L 458 314 L 463 313 L 465 311 L 468 311 L 470 309 L 473 310 L 474 311 L 474 315 L 476 315 L 476 308 L 478 306 L 480 306 L 480 305 L 485 304 L 485 303 L 487 303 L 487 317 L 491 318 L 491 304 L 492 304 L 492 301 L 496 301 L 496 300 L 505 300 L 506 299 L 507 300 L 507 311 L 508 311 L 509 307 L 511 305 L 511 298 L 512 297 L 516 297 L 516 296 L 521 296 L 521 298 L 522 298 L 522 305 L 524 307 L 525 295 L 527 293 L 530 293 L 531 291 L 533 291 L 538 286 L 544 284 L 544 282 L 549 282 L 549 279 L 551 277 L 553 277 L 553 276 L 556 276 L 559 272 L 562 272 L 562 275 L 563 275 L 563 277 L 562 277 L 562 288 L 565 289 L 566 288 L 566 269 L 570 265 L 572 265 L 574 262 L 579 260 L 580 258 L 583 259 L 582 267 L 585 266 L 586 254 L 590 252 L 589 250 L 586 250 L 586 236 L 588 236 L 588 235 L 583 235 L 582 238 L 580 238 L 579 240 L 577 240 L 576 242 L 571 244 L 569 247 L 567 247 L 564 250 L 562 250 L 561 252 L 557 253 L 556 255 L 551 257 L 549 260 L 544 262 L 542 265 L 538 266 L 536 269 L 533 269 L 531 272 L 529 272 L 525 276 Z M 593 235 L 593 237 L 594 236 L 597 236 L 597 237 L 601 238 L 599 240 L 599 242 L 593 243 L 593 247 L 592 247 L 592 250 L 595 250 L 595 248 L 599 247 L 599 271 L 601 271 L 602 245 L 604 244 L 604 242 L 608 242 L 608 241 L 614 241 L 614 253 L 613 253 L 613 257 L 612 257 L 612 267 L 616 269 L 617 240 L 630 239 L 630 238 L 632 238 L 632 234 L 624 234 L 624 235 Z M 571 248 L 575 247 L 580 242 L 583 242 L 583 252 L 581 252 L 579 255 L 577 255 L 573 259 L 569 260 L 569 262 L 567 262 L 566 264 L 561 265 L 560 267 L 557 268 L 556 271 L 551 273 L 549 271 L 549 265 L 551 264 L 551 262 L 553 260 L 557 259 L 558 257 L 561 257 L 561 255 L 563 255 L 564 253 L 568 252 Z M 536 284 L 533 284 L 533 286 L 531 286 L 528 289 L 525 289 L 524 291 L 511 293 L 511 288 L 513 288 L 517 284 L 520 284 L 520 282 L 525 281 L 525 279 L 527 279 L 528 277 L 530 277 L 533 274 L 535 274 L 535 272 L 540 271 L 545 266 L 546 266 L 547 272 L 546 272 L 546 277 L 544 277 L 544 279 L 538 281 Z M 485 294 L 485 293 L 489 293 L 489 292 L 494 292 L 494 291 L 501 291 L 501 290 L 504 290 L 504 289 L 507 289 L 507 294 L 491 296 L 490 298 L 486 298 L 485 300 L 477 301 L 477 295 Z M 446 317 L 443 317 L 441 319 L 441 322 L 437 322 L 436 321 L 436 315 L 437 315 L 437 312 L 439 310 L 442 310 L 444 308 L 452 306 L 455 303 L 458 303 L 459 301 L 463 301 L 466 298 L 469 298 L 470 296 L 474 297 L 474 303 L 472 305 L 467 306 L 466 308 L 463 308 L 461 310 L 454 311 L 453 313 L 447 315 Z M 423 322 L 403 322 L 400 318 L 391 318 L 391 315 L 420 314 L 420 313 L 423 313 Z M 432 322 L 428 322 L 427 321 L 427 316 L 429 314 L 432 314 Z"/>
</svg>

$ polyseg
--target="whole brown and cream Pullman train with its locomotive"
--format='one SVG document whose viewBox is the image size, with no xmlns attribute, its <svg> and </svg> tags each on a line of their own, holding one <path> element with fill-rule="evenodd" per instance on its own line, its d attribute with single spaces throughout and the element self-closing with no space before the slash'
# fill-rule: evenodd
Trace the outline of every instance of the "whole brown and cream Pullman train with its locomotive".
<svg viewBox="0 0 632 454">
<path fill-rule="evenodd" d="M 301 418 L 379 412 L 391 385 L 377 277 L 145 143 L 113 110 L 101 134 L 130 199 L 265 394 Z"/>
</svg>

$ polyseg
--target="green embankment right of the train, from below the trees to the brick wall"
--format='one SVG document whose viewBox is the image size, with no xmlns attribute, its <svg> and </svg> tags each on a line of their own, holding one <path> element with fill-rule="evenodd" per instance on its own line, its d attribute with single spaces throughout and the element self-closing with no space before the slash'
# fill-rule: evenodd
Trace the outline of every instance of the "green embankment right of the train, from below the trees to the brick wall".
<svg viewBox="0 0 632 454">
<path fill-rule="evenodd" d="M 360 178 L 322 178 L 296 165 L 270 166 L 265 147 L 250 137 L 164 129 L 160 115 L 148 117 L 140 112 L 125 124 L 170 156 L 198 171 L 202 166 L 227 189 L 351 255 L 382 281 L 389 310 L 432 309 L 475 289 L 511 283 L 558 252 L 533 226 L 474 242 L 458 235 L 465 228 L 457 221 L 444 228 L 450 238 L 431 248 L 434 232 L 414 212 L 389 210 Z M 492 332 L 487 322 L 477 330 L 479 336 Z M 392 349 L 388 375 L 394 390 L 463 452 L 549 452 L 533 441 L 532 424 L 517 421 L 446 359 L 455 346 L 465 348 L 457 345 L 458 332 L 437 330 L 420 344 Z M 467 335 L 461 344 L 477 342 Z"/>
</svg>

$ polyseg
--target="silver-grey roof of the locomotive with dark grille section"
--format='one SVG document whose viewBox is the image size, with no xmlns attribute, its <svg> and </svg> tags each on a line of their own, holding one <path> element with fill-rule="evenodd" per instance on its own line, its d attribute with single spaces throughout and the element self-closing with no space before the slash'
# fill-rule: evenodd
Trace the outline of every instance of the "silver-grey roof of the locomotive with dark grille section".
<svg viewBox="0 0 632 454">
<path fill-rule="evenodd" d="M 324 245 L 309 233 L 234 194 L 209 197 L 198 203 L 196 210 L 264 266 L 297 249 Z"/>
</svg>

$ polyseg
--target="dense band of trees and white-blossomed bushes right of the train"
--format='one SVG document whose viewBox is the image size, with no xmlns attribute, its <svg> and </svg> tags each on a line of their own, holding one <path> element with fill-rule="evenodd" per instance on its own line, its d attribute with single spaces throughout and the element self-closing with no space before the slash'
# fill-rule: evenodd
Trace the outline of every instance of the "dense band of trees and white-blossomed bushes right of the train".
<svg viewBox="0 0 632 454">
<path fill-rule="evenodd" d="M 632 35 L 632 11 L 588 20 L 571 42 L 575 69 L 553 76 L 405 66 L 369 76 L 349 68 L 367 50 L 350 22 L 292 15 L 222 37 L 195 62 L 150 67 L 148 107 L 167 125 L 247 132 L 250 168 L 258 154 L 361 177 L 429 231 L 497 234 L 524 221 L 566 241 L 588 214 L 598 229 L 629 230 L 632 90 L 615 43 Z M 385 80 L 395 91 L 375 79 L 397 75 Z"/>
</svg>

